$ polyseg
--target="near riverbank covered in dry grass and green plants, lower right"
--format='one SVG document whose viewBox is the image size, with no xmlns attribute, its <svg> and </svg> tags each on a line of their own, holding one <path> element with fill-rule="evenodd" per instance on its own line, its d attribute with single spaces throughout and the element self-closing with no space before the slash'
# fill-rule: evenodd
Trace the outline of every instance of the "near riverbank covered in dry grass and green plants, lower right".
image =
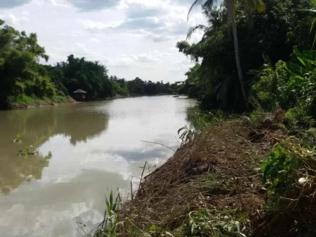
<svg viewBox="0 0 316 237">
<path fill-rule="evenodd" d="M 289 131 L 276 113 L 257 122 L 239 116 L 186 132 L 187 142 L 143 179 L 131 200 L 112 210 L 118 214 L 115 233 L 315 235 L 316 156 L 306 147 L 315 143 L 313 129 Z"/>
</svg>

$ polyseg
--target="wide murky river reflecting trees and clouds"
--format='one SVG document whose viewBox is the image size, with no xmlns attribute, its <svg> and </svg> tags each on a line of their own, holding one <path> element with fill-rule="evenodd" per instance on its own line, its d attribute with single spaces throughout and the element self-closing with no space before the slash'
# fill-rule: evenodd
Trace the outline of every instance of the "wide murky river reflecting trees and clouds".
<svg viewBox="0 0 316 237">
<path fill-rule="evenodd" d="M 77 222 L 94 228 L 109 190 L 124 193 L 145 161 L 153 170 L 173 154 L 141 140 L 176 149 L 194 103 L 152 96 L 0 111 L 0 235 L 76 236 Z M 25 148 L 39 154 L 17 155 Z"/>
</svg>

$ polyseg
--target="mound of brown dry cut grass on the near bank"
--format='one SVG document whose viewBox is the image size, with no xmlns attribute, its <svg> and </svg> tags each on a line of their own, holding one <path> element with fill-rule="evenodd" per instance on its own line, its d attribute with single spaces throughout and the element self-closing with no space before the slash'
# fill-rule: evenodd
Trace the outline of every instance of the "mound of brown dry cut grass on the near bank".
<svg viewBox="0 0 316 237">
<path fill-rule="evenodd" d="M 190 213 L 206 209 L 257 217 L 265 197 L 259 159 L 273 143 L 267 139 L 251 143 L 253 128 L 233 120 L 196 135 L 144 178 L 133 200 L 125 203 L 120 218 L 131 218 L 141 230 L 154 224 L 173 231 L 181 228 Z M 131 234 L 128 226 L 126 223 L 126 236 Z"/>
</svg>

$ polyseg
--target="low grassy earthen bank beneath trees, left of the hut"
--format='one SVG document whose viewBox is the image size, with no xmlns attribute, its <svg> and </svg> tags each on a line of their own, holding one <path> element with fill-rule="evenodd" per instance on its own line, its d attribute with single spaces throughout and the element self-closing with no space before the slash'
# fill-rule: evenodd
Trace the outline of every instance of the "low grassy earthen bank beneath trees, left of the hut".
<svg viewBox="0 0 316 237">
<path fill-rule="evenodd" d="M 24 96 L 18 99 L 17 101 L 12 102 L 10 109 L 27 109 L 27 108 L 42 107 L 42 106 L 56 106 L 56 105 L 66 104 L 66 103 L 75 104 L 77 102 L 70 96 L 58 96 L 52 99 L 49 99 L 49 98 L 39 99 L 39 98 Z"/>
</svg>

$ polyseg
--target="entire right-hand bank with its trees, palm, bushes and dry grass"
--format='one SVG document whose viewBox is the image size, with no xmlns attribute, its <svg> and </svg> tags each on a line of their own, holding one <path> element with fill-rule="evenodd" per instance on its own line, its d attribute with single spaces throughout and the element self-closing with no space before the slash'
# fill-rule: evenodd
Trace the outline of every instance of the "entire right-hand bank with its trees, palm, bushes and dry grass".
<svg viewBox="0 0 316 237">
<path fill-rule="evenodd" d="M 86 234 L 316 235 L 316 1 L 215 2 L 193 3 L 203 39 L 177 44 L 197 62 L 180 93 L 199 101 L 181 146 Z"/>
</svg>

